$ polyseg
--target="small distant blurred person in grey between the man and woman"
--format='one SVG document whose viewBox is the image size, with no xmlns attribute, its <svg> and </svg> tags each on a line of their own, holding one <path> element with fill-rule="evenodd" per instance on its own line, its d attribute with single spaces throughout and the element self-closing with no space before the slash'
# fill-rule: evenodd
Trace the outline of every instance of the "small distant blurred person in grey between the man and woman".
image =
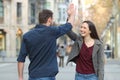
<svg viewBox="0 0 120 80">
<path fill-rule="evenodd" d="M 59 57 L 59 67 L 64 67 L 64 57 L 66 55 L 66 48 L 65 45 L 61 45 L 58 48 L 58 57 Z"/>
</svg>

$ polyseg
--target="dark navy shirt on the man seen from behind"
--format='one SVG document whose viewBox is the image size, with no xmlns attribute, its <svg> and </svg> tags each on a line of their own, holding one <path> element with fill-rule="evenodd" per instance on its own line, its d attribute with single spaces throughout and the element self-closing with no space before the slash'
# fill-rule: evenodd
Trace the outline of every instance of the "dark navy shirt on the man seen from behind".
<svg viewBox="0 0 120 80">
<path fill-rule="evenodd" d="M 29 74 L 31 77 L 55 76 L 58 73 L 56 58 L 56 39 L 72 28 L 70 23 L 61 27 L 37 25 L 23 36 L 24 46 L 29 55 Z M 25 59 L 25 58 L 24 58 Z M 21 60 L 19 57 L 18 60 Z M 24 60 L 23 60 L 24 61 Z"/>
</svg>

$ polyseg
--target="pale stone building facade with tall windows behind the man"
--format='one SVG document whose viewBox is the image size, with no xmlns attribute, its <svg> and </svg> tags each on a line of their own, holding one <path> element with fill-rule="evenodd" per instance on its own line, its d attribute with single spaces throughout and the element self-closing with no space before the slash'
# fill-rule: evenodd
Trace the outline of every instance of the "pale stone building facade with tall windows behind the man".
<svg viewBox="0 0 120 80">
<path fill-rule="evenodd" d="M 42 9 L 53 11 L 55 24 L 65 23 L 66 1 L 0 0 L 0 51 L 4 50 L 6 57 L 16 57 L 22 35 L 38 24 L 38 14 Z"/>
</svg>

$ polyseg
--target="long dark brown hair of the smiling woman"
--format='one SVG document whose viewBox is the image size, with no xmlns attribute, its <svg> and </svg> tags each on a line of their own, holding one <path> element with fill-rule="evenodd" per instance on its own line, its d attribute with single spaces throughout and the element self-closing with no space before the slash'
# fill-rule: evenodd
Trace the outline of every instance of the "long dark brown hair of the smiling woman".
<svg viewBox="0 0 120 80">
<path fill-rule="evenodd" d="M 87 23 L 88 24 L 88 27 L 89 27 L 89 30 L 91 31 L 90 33 L 90 36 L 93 38 L 93 39 L 99 39 L 98 37 L 98 33 L 97 33 L 97 30 L 96 30 L 96 27 L 95 25 L 91 22 L 91 21 L 83 21 L 82 23 Z"/>
</svg>

